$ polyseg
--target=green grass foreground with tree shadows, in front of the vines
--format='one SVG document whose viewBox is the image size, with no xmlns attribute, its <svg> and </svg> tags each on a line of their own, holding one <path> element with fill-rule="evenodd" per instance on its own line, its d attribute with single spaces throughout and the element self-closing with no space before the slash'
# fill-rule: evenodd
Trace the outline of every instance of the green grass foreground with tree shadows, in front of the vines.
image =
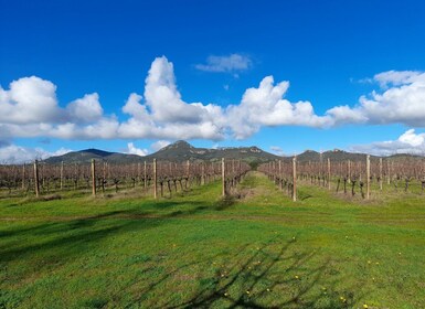
<svg viewBox="0 0 425 309">
<path fill-rule="evenodd" d="M 425 196 L 220 190 L 0 200 L 0 308 L 425 308 Z"/>
</svg>

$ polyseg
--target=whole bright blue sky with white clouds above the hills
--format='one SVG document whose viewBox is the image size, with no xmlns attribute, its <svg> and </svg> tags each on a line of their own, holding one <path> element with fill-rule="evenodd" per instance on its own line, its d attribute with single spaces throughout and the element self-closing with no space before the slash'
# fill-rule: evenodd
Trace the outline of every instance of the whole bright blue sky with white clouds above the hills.
<svg viewBox="0 0 425 309">
<path fill-rule="evenodd" d="M 0 162 L 180 139 L 425 153 L 424 1 L 0 7 Z"/>
</svg>

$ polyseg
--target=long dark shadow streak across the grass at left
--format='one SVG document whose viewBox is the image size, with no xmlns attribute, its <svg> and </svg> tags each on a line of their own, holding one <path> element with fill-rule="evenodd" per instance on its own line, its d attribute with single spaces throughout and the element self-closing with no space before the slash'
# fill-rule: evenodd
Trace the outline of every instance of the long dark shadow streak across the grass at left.
<svg viewBox="0 0 425 309">
<path fill-rule="evenodd" d="M 184 210 L 157 212 L 156 210 L 184 205 Z M 144 211 L 145 206 L 150 211 Z M 110 211 L 85 217 L 55 216 L 53 222 L 41 223 L 30 227 L 0 230 L 0 239 L 9 241 L 0 245 L 0 263 L 49 255 L 55 259 L 72 259 L 89 246 L 100 246 L 102 238 L 120 231 L 140 231 L 155 228 L 168 223 L 168 219 L 194 215 L 210 209 L 202 202 L 151 202 L 144 207 L 135 206 L 123 211 Z M 153 211 L 152 211 L 153 210 Z"/>
</svg>

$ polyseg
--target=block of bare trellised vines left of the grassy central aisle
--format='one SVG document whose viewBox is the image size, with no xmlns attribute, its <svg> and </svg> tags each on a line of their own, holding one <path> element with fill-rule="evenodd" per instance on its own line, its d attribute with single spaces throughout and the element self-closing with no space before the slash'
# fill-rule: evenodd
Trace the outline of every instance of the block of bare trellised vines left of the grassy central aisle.
<svg viewBox="0 0 425 309">
<path fill-rule="evenodd" d="M 223 195 L 232 193 L 249 166 L 238 160 L 171 162 L 156 160 L 130 164 L 92 163 L 0 166 L 0 196 L 43 195 L 65 191 L 92 194 L 141 189 L 157 196 L 171 196 L 222 179 Z"/>
</svg>

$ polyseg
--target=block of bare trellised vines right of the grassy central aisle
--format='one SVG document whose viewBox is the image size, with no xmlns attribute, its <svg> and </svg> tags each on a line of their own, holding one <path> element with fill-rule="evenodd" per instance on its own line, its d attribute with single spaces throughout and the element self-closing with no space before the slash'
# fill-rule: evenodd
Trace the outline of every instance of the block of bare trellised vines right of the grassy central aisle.
<svg viewBox="0 0 425 309">
<path fill-rule="evenodd" d="M 362 161 L 274 161 L 258 170 L 280 190 L 297 199 L 297 182 L 320 185 L 337 193 L 369 199 L 372 191 L 419 192 L 425 190 L 425 160 L 384 160 L 366 157 Z M 413 190 L 414 189 L 414 190 Z M 418 190 L 417 190 L 418 189 Z"/>
</svg>

